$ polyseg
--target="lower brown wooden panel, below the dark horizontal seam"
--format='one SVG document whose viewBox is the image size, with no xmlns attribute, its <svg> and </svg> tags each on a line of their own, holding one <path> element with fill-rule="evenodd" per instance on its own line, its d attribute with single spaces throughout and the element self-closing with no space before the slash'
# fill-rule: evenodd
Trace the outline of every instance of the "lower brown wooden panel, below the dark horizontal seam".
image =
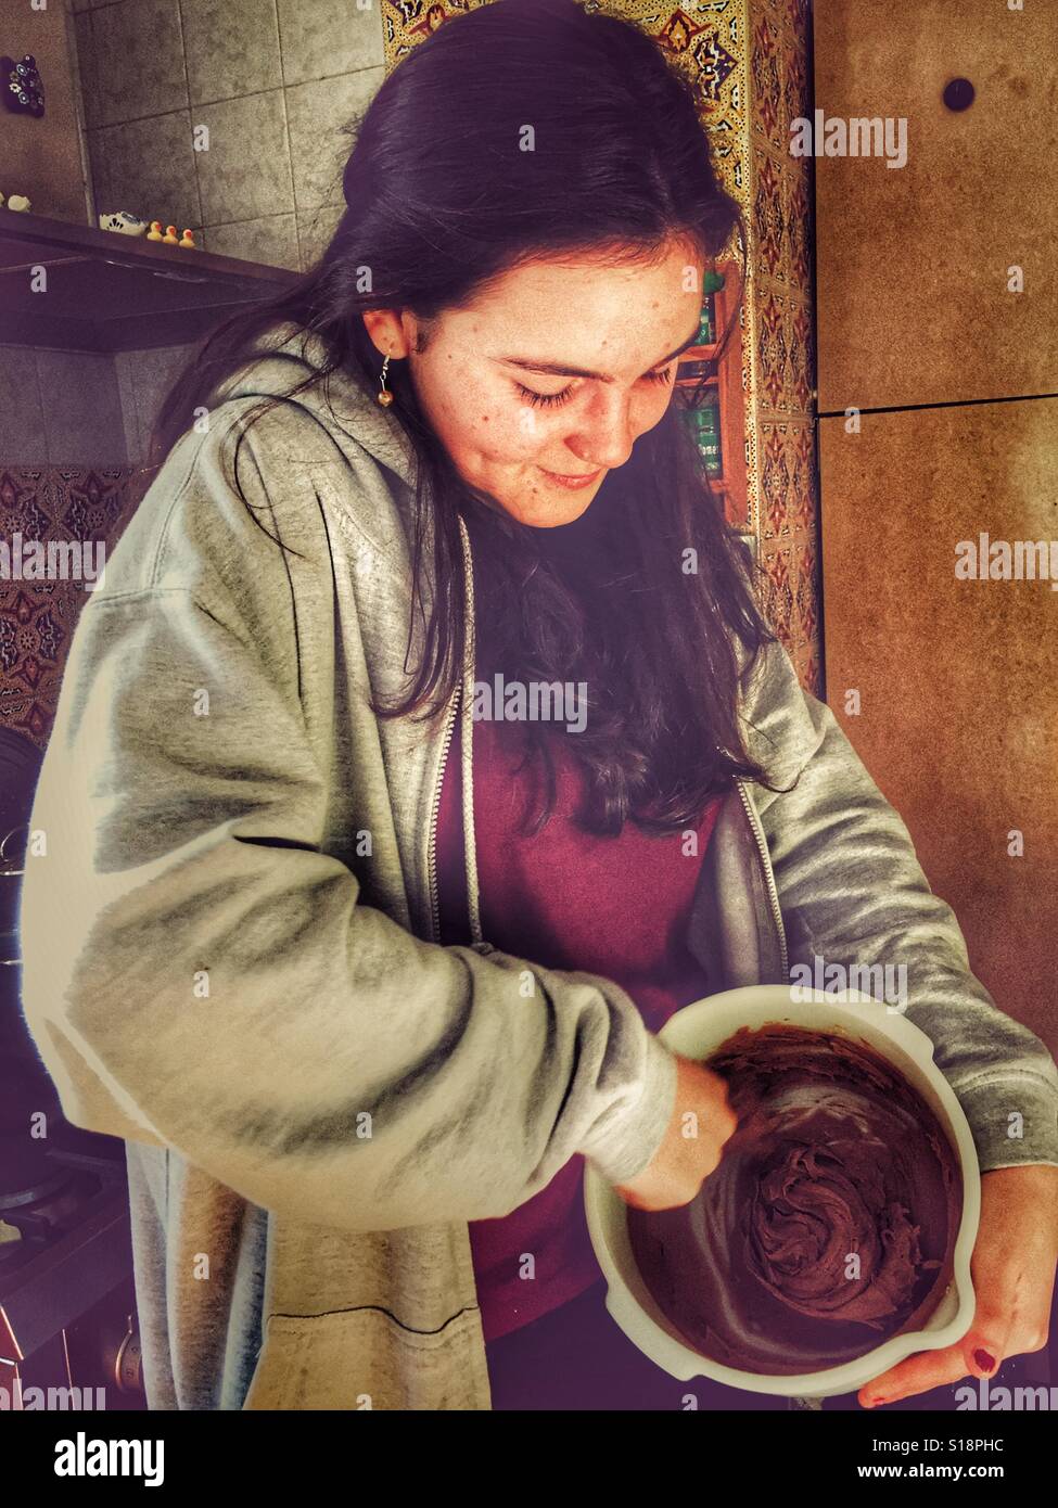
<svg viewBox="0 0 1058 1508">
<path fill-rule="evenodd" d="M 1052 1050 L 1058 591 L 958 581 L 955 544 L 1058 538 L 1056 433 L 1058 400 L 872 415 L 860 434 L 820 422 L 827 701 L 975 973 Z M 1013 828 L 1025 858 L 1008 857 Z"/>
</svg>

